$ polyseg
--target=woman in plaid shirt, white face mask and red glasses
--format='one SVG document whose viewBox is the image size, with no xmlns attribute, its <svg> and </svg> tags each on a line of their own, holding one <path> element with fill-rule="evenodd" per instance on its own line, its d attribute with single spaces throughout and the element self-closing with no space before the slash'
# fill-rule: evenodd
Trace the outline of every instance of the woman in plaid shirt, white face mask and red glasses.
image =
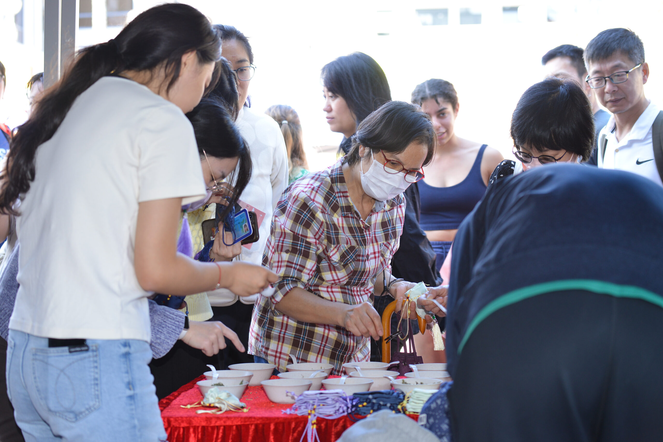
<svg viewBox="0 0 663 442">
<path fill-rule="evenodd" d="M 284 371 L 292 353 L 341 374 L 345 362 L 369 360 L 369 337 L 383 335 L 372 297 L 386 281 L 400 306 L 414 286 L 392 278 L 390 262 L 402 232 L 402 192 L 424 178 L 434 143 L 419 106 L 391 101 L 359 125 L 347 156 L 286 189 L 263 257 L 279 276 L 276 293 L 260 298 L 251 321 L 249 353 L 257 361 Z"/>
</svg>

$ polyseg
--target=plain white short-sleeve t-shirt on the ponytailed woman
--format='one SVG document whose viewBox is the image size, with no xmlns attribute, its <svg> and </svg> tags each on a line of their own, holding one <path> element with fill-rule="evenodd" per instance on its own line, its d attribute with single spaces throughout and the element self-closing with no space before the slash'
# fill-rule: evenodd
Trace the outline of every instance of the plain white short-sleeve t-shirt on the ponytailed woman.
<svg viewBox="0 0 663 442">
<path fill-rule="evenodd" d="M 204 194 L 184 113 L 139 83 L 101 78 L 36 152 L 17 221 L 21 288 L 9 328 L 150 341 L 150 293 L 134 270 L 139 202 Z"/>
</svg>

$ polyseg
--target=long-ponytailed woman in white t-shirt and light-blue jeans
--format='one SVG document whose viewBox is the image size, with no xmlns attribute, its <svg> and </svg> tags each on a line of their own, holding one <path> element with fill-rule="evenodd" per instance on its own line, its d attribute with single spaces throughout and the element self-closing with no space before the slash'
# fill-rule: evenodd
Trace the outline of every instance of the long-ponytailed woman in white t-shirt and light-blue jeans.
<svg viewBox="0 0 663 442">
<path fill-rule="evenodd" d="M 149 9 L 82 50 L 13 140 L 0 192 L 0 209 L 20 212 L 7 385 L 27 441 L 166 440 L 147 297 L 247 296 L 276 280 L 176 252 L 182 205 L 214 184 L 184 113 L 219 56 L 199 11 Z"/>
</svg>

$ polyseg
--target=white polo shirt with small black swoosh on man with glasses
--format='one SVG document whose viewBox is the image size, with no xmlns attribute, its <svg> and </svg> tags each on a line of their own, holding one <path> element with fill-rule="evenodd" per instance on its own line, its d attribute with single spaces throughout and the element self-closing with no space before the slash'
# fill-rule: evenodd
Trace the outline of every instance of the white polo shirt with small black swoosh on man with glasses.
<svg viewBox="0 0 663 442">
<path fill-rule="evenodd" d="M 601 146 L 599 146 L 597 158 L 599 167 L 628 170 L 663 186 L 658 168 L 656 168 L 652 144 L 652 125 L 658 111 L 660 111 L 658 106 L 650 102 L 642 115 L 638 117 L 631 132 L 619 141 L 615 135 L 615 117 L 610 117 L 607 125 L 599 133 L 599 144 L 601 135 L 605 135 L 607 140 L 603 156 L 601 156 Z"/>
</svg>

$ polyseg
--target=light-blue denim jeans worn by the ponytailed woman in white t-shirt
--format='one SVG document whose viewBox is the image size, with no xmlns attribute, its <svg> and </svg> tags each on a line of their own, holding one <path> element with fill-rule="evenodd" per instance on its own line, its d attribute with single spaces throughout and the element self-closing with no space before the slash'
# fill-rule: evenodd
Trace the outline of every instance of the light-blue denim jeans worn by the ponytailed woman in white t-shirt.
<svg viewBox="0 0 663 442">
<path fill-rule="evenodd" d="M 149 344 L 87 344 L 49 348 L 46 338 L 9 331 L 7 393 L 26 442 L 165 441 Z"/>
</svg>

